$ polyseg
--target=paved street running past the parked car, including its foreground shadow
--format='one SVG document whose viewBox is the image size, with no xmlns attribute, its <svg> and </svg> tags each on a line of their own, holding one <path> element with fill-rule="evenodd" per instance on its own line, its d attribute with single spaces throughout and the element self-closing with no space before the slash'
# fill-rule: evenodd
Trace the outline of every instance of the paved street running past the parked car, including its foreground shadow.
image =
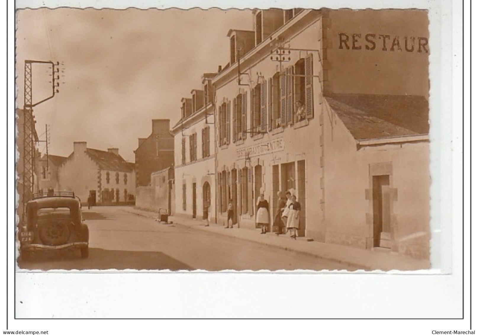
<svg viewBox="0 0 478 335">
<path fill-rule="evenodd" d="M 159 224 L 121 207 L 84 209 L 90 253 L 41 252 L 24 269 L 170 269 L 293 270 L 348 269 L 347 265 L 274 246 L 199 231 L 180 224 Z"/>
</svg>

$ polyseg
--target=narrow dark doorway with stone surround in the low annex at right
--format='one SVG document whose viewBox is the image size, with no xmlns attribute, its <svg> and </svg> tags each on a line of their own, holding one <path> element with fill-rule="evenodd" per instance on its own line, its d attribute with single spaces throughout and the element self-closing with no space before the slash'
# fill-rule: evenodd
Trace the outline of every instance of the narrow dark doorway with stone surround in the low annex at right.
<svg viewBox="0 0 478 335">
<path fill-rule="evenodd" d="M 373 176 L 373 246 L 391 247 L 390 176 Z"/>
</svg>

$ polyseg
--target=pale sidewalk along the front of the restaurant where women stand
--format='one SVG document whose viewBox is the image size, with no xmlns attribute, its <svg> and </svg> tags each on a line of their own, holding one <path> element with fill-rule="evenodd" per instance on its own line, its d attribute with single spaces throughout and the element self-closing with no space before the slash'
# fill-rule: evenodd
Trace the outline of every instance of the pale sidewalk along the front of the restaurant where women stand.
<svg viewBox="0 0 478 335">
<path fill-rule="evenodd" d="M 123 210 L 132 214 L 149 217 L 152 220 L 158 218 L 158 214 L 155 212 L 143 211 L 133 207 L 124 208 Z M 237 225 L 234 225 L 232 229 L 224 229 L 223 225 L 216 223 L 210 223 L 209 226 L 206 226 L 206 220 L 190 219 L 182 216 L 169 216 L 169 221 L 192 229 L 262 243 L 267 246 L 275 246 L 285 250 L 333 260 L 364 270 L 421 270 L 430 267 L 430 263 L 427 260 L 414 259 L 388 251 L 366 250 L 316 241 L 309 242 L 306 237 L 297 237 L 296 240 L 293 240 L 288 234 L 280 236 L 273 233 L 260 234 L 259 229 L 240 229 L 237 228 Z"/>
</svg>

